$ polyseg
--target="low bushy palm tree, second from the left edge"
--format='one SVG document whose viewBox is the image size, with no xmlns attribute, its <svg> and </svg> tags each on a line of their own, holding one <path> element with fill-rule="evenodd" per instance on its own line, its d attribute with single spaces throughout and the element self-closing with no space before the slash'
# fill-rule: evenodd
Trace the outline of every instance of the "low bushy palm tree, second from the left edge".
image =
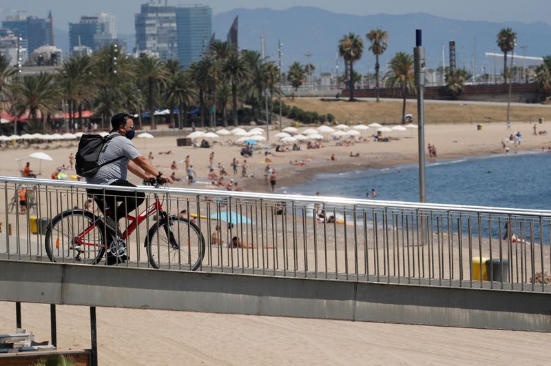
<svg viewBox="0 0 551 366">
<path fill-rule="evenodd" d="M 29 111 L 33 123 L 40 112 L 45 132 L 46 115 L 54 113 L 59 106 L 59 92 L 54 85 L 54 75 L 41 72 L 23 77 L 21 85 L 22 107 Z"/>
</svg>

